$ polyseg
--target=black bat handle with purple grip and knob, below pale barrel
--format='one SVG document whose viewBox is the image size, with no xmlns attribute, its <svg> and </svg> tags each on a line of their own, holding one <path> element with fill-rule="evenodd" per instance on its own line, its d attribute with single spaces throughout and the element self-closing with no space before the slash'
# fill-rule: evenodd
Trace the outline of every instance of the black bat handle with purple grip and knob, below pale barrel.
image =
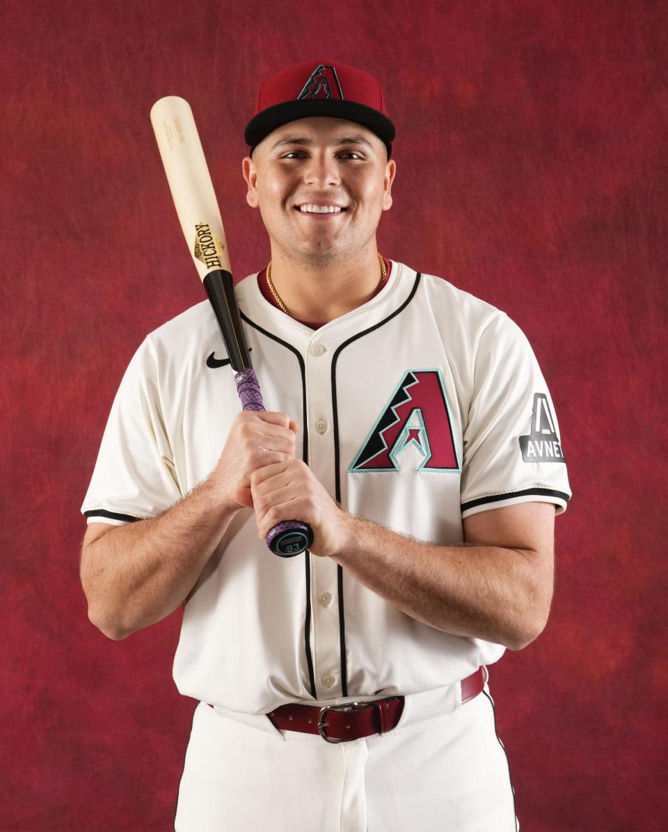
<svg viewBox="0 0 668 832">
<path fill-rule="evenodd" d="M 255 370 L 250 365 L 250 356 L 241 328 L 239 307 L 236 305 L 234 281 L 230 272 L 223 269 L 210 271 L 204 285 L 214 308 L 225 347 L 235 370 L 235 384 L 241 407 L 244 410 L 265 412 L 260 384 Z M 273 527 L 266 538 L 267 546 L 279 557 L 294 557 L 313 543 L 313 530 L 308 523 L 300 520 L 284 520 Z"/>
</svg>

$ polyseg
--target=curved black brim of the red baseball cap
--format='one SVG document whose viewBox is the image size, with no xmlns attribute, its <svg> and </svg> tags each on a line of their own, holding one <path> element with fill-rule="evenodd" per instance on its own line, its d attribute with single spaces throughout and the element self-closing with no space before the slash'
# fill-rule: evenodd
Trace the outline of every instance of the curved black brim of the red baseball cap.
<svg viewBox="0 0 668 832">
<path fill-rule="evenodd" d="M 357 121 L 358 124 L 368 127 L 376 136 L 379 136 L 388 148 L 388 156 L 390 154 L 391 143 L 394 141 L 394 125 L 388 116 L 383 116 L 382 112 L 374 110 L 373 107 L 339 98 L 311 98 L 307 101 L 283 102 L 267 107 L 266 110 L 253 116 L 246 125 L 244 134 L 246 144 L 255 148 L 276 127 L 311 116 L 329 116 Z"/>
</svg>

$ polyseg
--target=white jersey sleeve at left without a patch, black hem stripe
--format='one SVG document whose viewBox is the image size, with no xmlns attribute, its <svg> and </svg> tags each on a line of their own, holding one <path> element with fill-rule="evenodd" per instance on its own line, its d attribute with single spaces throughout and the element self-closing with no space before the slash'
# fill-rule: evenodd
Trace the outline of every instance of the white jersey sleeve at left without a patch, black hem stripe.
<svg viewBox="0 0 668 832">
<path fill-rule="evenodd" d="M 156 517 L 181 497 L 149 335 L 116 392 L 81 511 L 89 523 L 117 526 Z"/>
</svg>

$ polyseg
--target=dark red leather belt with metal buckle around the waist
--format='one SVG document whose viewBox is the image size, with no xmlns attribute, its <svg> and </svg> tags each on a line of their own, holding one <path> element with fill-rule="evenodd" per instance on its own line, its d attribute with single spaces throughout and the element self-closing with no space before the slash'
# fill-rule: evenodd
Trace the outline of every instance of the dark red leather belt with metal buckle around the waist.
<svg viewBox="0 0 668 832">
<path fill-rule="evenodd" d="M 482 667 L 462 680 L 462 704 L 477 696 L 485 684 Z M 346 705 L 281 705 L 267 717 L 281 730 L 319 734 L 328 742 L 348 742 L 372 734 L 384 734 L 398 724 L 403 696 L 389 696 L 372 702 Z"/>
</svg>

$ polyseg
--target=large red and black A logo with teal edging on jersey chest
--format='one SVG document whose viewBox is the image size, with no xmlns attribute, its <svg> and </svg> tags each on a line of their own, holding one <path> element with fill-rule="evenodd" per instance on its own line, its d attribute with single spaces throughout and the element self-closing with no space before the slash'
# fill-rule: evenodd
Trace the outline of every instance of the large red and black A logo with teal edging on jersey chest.
<svg viewBox="0 0 668 832">
<path fill-rule="evenodd" d="M 404 374 L 349 473 L 398 471 L 408 448 L 417 448 L 423 456 L 418 471 L 459 470 L 448 399 L 438 369 Z"/>
</svg>

